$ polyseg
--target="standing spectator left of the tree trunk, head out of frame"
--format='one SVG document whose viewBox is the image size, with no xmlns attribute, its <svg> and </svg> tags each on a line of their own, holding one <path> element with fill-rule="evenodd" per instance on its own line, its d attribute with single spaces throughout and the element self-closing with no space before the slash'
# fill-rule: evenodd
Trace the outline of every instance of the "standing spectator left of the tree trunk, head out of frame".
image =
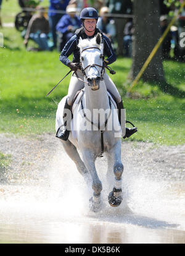
<svg viewBox="0 0 185 256">
<path fill-rule="evenodd" d="M 131 0 L 109 0 L 107 1 L 110 14 L 132 14 L 133 3 Z M 121 17 L 113 17 L 117 31 L 117 54 L 123 55 L 123 28 L 125 27 L 125 19 Z"/>
</svg>

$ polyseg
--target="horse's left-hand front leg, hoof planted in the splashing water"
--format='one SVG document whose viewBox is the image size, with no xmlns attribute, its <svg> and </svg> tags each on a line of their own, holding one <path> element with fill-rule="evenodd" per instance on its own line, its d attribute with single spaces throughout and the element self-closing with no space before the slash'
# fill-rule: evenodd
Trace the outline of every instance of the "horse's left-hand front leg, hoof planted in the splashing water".
<svg viewBox="0 0 185 256">
<path fill-rule="evenodd" d="M 102 182 L 97 176 L 97 171 L 95 167 L 95 155 L 92 150 L 84 149 L 82 151 L 83 161 L 92 177 L 92 190 L 94 191 L 92 197 L 90 198 L 90 210 L 99 211 L 101 208 L 101 191 Z"/>
</svg>

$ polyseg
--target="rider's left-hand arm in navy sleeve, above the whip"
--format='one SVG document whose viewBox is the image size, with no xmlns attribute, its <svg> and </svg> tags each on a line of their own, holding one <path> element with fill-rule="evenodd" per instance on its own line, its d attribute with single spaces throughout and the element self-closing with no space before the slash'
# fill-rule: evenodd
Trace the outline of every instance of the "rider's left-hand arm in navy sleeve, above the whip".
<svg viewBox="0 0 185 256">
<path fill-rule="evenodd" d="M 66 43 L 64 46 L 64 49 L 62 49 L 62 52 L 60 53 L 60 61 L 68 66 L 68 64 L 71 62 L 70 59 L 68 59 L 68 56 L 70 56 L 73 51 L 75 51 L 77 47 L 77 40 L 76 35 L 73 35 L 72 38 Z"/>
</svg>

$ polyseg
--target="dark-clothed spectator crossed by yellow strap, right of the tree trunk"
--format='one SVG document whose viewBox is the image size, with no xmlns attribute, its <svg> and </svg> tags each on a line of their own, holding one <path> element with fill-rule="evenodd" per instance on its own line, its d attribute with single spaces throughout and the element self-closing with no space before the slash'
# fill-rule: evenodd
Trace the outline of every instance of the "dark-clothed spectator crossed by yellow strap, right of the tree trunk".
<svg viewBox="0 0 185 256">
<path fill-rule="evenodd" d="M 160 28 L 161 28 L 161 34 L 163 34 L 168 27 L 168 19 L 167 15 L 160 16 Z M 167 36 L 163 40 L 162 43 L 162 54 L 164 59 L 170 58 L 170 49 L 171 49 L 171 32 L 168 32 Z"/>
</svg>

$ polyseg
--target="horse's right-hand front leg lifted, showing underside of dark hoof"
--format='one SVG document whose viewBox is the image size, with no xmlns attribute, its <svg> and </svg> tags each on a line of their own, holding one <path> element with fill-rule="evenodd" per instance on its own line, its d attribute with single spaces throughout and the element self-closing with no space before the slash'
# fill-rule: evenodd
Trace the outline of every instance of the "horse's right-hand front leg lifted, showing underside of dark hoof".
<svg viewBox="0 0 185 256">
<path fill-rule="evenodd" d="M 121 142 L 117 142 L 109 153 L 113 155 L 113 173 L 115 174 L 113 190 L 109 193 L 109 204 L 112 207 L 118 207 L 123 200 L 121 186 L 121 176 L 123 174 L 123 164 L 121 163 Z"/>
</svg>

